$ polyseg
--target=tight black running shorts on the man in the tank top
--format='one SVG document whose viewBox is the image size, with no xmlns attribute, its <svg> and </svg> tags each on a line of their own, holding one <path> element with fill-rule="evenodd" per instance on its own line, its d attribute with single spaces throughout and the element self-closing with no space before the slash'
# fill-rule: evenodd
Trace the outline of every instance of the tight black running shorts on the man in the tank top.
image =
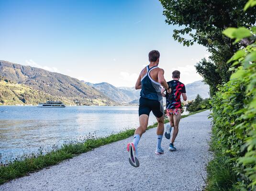
<svg viewBox="0 0 256 191">
<path fill-rule="evenodd" d="M 159 101 L 149 100 L 141 97 L 139 105 L 139 116 L 142 114 L 149 116 L 150 111 L 152 111 L 157 118 L 160 118 L 164 115 L 162 105 Z"/>
</svg>

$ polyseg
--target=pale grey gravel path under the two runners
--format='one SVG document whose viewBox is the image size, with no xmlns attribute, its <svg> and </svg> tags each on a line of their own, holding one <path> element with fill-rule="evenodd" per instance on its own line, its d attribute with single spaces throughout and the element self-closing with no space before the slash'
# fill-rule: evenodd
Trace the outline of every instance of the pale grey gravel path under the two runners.
<svg viewBox="0 0 256 191">
<path fill-rule="evenodd" d="M 156 128 L 146 131 L 138 147 L 139 168 L 128 162 L 130 137 L 7 182 L 0 191 L 201 191 L 211 159 L 208 114 L 181 119 L 175 152 L 163 138 L 165 154 L 154 154 Z"/>
</svg>

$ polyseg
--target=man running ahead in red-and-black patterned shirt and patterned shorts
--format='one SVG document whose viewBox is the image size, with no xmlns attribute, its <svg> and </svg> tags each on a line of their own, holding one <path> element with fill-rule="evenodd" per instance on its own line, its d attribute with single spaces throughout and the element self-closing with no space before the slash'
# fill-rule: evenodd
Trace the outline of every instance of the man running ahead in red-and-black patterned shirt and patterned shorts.
<svg viewBox="0 0 256 191">
<path fill-rule="evenodd" d="M 178 70 L 173 71 L 173 80 L 167 82 L 169 87 L 171 87 L 171 93 L 164 94 L 164 92 L 166 91 L 165 88 L 161 90 L 162 95 L 166 97 L 166 112 L 168 120 L 170 121 L 170 124 L 167 125 L 165 132 L 165 137 L 167 139 L 170 139 L 171 128 L 174 127 L 172 139 L 169 145 L 169 151 L 176 151 L 173 143 L 178 134 L 178 123 L 180 121 L 182 112 L 180 96 L 182 95 L 184 101 L 187 100 L 185 85 L 179 81 L 179 77 L 180 72 Z"/>
</svg>

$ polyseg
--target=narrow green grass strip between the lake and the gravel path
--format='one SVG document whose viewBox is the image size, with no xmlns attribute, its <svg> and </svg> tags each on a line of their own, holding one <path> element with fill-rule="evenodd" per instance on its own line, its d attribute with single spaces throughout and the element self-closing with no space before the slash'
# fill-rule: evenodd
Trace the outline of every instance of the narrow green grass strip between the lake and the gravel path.
<svg viewBox="0 0 256 191">
<path fill-rule="evenodd" d="M 189 113 L 189 115 L 198 112 L 201 111 Z M 182 118 L 187 117 L 189 115 L 183 115 Z M 167 122 L 168 120 L 166 119 L 165 123 Z M 157 123 L 148 126 L 147 130 L 152 129 L 156 126 Z M 135 129 L 129 129 L 102 138 L 95 138 L 93 136 L 89 136 L 89 138 L 84 142 L 70 142 L 67 144 L 63 144 L 60 148 L 54 148 L 52 151 L 46 154 L 40 152 L 39 154 L 24 157 L 22 158 L 22 160 L 12 161 L 8 165 L 0 166 L 0 184 L 3 184 L 4 182 L 10 181 L 18 177 L 25 176 L 29 172 L 39 171 L 45 167 L 55 165 L 66 159 L 71 159 L 72 157 L 78 154 L 92 151 L 93 149 L 100 147 L 102 145 L 126 139 L 134 135 L 134 131 Z"/>
</svg>

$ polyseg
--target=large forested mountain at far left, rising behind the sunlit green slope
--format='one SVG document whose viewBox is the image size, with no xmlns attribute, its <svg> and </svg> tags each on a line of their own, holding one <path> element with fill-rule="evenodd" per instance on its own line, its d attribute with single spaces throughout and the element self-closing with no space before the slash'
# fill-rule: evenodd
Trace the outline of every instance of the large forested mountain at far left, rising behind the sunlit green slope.
<svg viewBox="0 0 256 191">
<path fill-rule="evenodd" d="M 71 104 L 118 104 L 100 91 L 80 80 L 31 66 L 23 66 L 0 60 L 0 76 L 14 83 L 25 85 L 25 87 L 31 88 L 31 90 L 37 90 L 38 92 L 51 95 L 57 100 L 70 102 Z M 2 91 L 3 89 L 0 89 L 0 92 Z M 45 97 L 44 101 L 46 100 L 48 100 L 48 98 Z M 39 100 L 37 100 L 36 103 L 37 102 L 39 102 Z"/>
</svg>

